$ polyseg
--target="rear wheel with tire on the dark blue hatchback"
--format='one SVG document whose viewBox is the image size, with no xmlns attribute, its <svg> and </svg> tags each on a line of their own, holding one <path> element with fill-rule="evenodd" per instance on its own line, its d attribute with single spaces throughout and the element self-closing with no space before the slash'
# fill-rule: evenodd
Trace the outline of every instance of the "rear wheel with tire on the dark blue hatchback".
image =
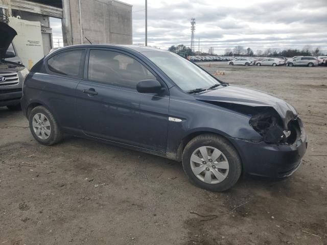
<svg viewBox="0 0 327 245">
<path fill-rule="evenodd" d="M 42 115 L 44 115 L 44 119 L 42 119 Z M 29 122 L 31 133 L 39 143 L 44 145 L 53 145 L 61 141 L 62 132 L 58 126 L 57 120 L 45 107 L 35 107 L 29 115 Z M 37 127 L 39 127 L 40 131 L 37 131 L 35 128 L 36 125 L 38 125 Z"/>
</svg>

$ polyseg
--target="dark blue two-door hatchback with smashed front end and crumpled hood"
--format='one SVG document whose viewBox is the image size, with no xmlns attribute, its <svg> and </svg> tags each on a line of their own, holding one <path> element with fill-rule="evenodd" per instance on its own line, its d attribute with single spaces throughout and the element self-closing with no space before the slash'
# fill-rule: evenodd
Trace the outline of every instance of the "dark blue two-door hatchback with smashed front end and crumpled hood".
<svg viewBox="0 0 327 245">
<path fill-rule="evenodd" d="M 307 149 L 301 119 L 285 101 L 149 47 L 60 48 L 31 69 L 23 93 L 38 142 L 52 145 L 66 133 L 167 157 L 213 191 L 242 173 L 289 176 Z"/>
</svg>

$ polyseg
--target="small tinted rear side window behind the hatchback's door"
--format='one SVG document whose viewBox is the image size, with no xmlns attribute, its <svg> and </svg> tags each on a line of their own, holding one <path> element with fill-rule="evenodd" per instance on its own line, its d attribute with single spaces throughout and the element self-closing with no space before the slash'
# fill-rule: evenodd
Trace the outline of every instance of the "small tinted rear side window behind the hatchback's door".
<svg viewBox="0 0 327 245">
<path fill-rule="evenodd" d="M 48 60 L 48 68 L 60 75 L 81 77 L 83 73 L 85 50 L 62 52 Z"/>
</svg>

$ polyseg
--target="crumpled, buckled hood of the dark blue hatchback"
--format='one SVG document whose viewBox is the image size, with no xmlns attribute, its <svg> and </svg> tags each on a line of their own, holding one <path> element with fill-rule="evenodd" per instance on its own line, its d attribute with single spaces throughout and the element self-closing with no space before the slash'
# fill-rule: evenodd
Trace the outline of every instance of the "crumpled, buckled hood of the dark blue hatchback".
<svg viewBox="0 0 327 245">
<path fill-rule="evenodd" d="M 285 129 L 287 129 L 288 122 L 297 115 L 293 106 L 277 97 L 259 90 L 235 85 L 209 90 L 194 96 L 200 101 L 224 102 L 250 107 L 272 107 L 281 116 Z"/>
</svg>

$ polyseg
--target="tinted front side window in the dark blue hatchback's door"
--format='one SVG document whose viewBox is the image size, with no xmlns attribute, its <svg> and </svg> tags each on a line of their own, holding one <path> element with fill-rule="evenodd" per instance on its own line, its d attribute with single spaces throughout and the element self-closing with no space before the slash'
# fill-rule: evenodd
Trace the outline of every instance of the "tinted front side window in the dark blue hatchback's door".
<svg viewBox="0 0 327 245">
<path fill-rule="evenodd" d="M 88 79 L 95 82 L 136 89 L 139 81 L 156 77 L 137 60 L 113 51 L 91 50 Z"/>
</svg>

